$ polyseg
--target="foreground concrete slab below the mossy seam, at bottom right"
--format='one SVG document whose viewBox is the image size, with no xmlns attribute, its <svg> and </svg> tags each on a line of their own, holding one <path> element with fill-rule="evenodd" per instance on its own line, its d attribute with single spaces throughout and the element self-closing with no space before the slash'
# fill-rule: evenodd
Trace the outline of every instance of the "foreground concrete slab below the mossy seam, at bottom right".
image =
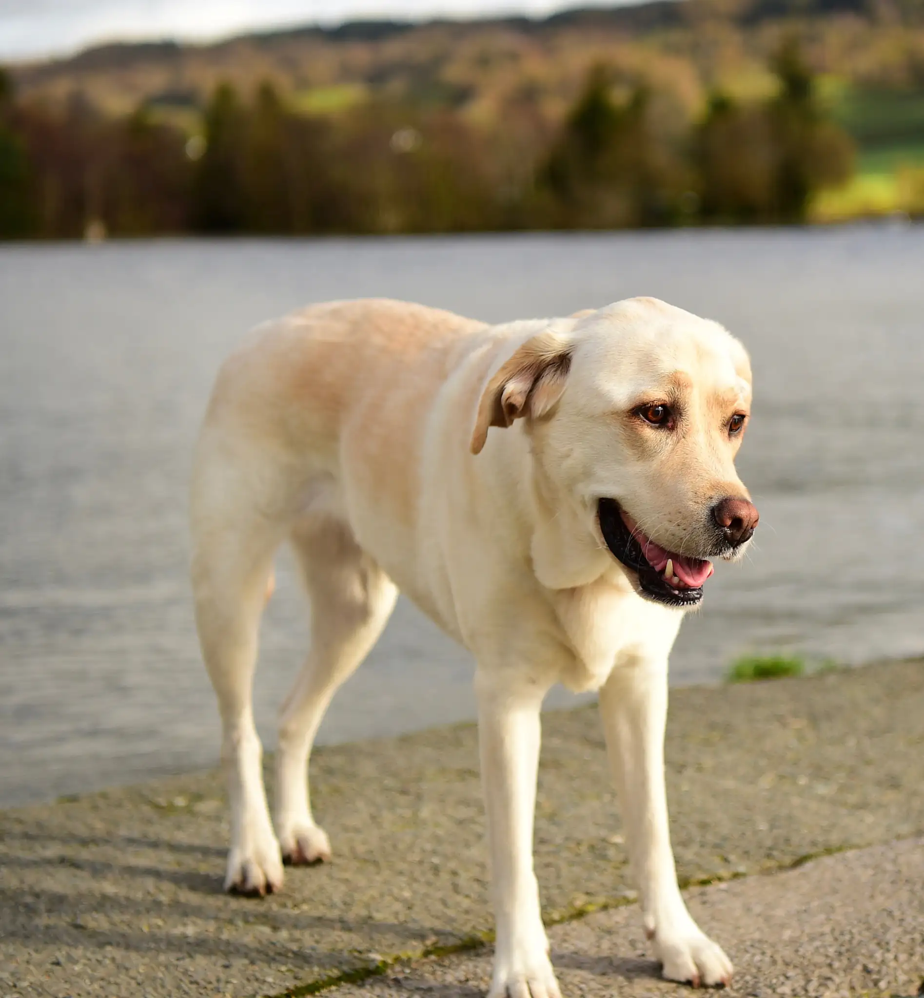
<svg viewBox="0 0 924 998">
<path fill-rule="evenodd" d="M 718 882 L 713 882 L 712 886 L 690 890 L 687 902 L 691 904 L 691 911 L 698 909 L 700 915 L 708 911 L 714 916 L 730 909 L 721 931 L 729 944 L 740 950 L 737 968 L 740 980 L 736 973 L 731 985 L 732 996 L 924 998 L 924 909 L 919 903 L 924 896 L 921 893 L 924 887 L 924 867 L 920 862 L 924 857 L 922 849 L 924 838 L 919 836 L 854 849 L 827 848 L 819 850 L 815 856 L 804 855 L 781 864 L 777 870 L 716 878 Z M 832 862 L 837 865 L 832 867 Z M 869 874 L 875 876 L 877 889 L 870 893 L 871 903 L 867 905 Z M 799 879 L 794 881 L 792 877 Z M 736 883 L 732 885 L 729 881 Z M 858 888 L 860 893 L 849 888 L 845 891 L 848 882 L 850 888 Z M 815 901 L 819 887 L 821 893 L 829 891 L 835 900 L 841 897 L 848 900 L 850 914 L 846 919 L 835 917 L 833 931 L 832 913 L 825 910 L 824 902 L 816 904 Z M 716 890 L 722 893 L 717 895 Z M 877 891 L 878 896 L 875 896 Z M 848 898 L 847 894 L 851 896 Z M 784 898 L 786 900 L 780 906 L 780 900 Z M 641 955 L 639 947 L 647 947 L 641 941 L 641 932 L 629 927 L 629 922 L 634 921 L 634 914 L 627 910 L 630 905 L 616 907 L 621 910 L 590 912 L 587 918 L 577 917 L 568 923 L 558 923 L 558 931 L 549 932 L 562 993 L 583 998 L 612 998 L 614 994 L 624 998 L 677 998 L 688 994 L 688 985 L 665 981 L 659 965 Z M 892 916 L 899 909 L 908 912 L 911 918 L 904 923 L 901 917 L 896 921 Z M 793 920 L 796 912 L 799 915 Z M 754 939 L 748 935 L 746 927 L 748 915 L 751 922 L 759 921 L 762 930 L 756 956 Z M 735 936 L 730 925 L 740 925 L 742 916 L 745 916 L 744 934 Z M 883 927 L 882 916 L 889 916 L 893 923 L 891 931 Z M 904 956 L 897 953 L 889 941 L 890 935 L 894 938 L 896 924 L 908 930 L 902 933 Z M 795 946 L 793 927 L 798 940 Z M 858 937 L 862 942 L 856 946 Z M 916 939 L 918 944 L 914 942 Z M 851 953 L 846 962 L 842 959 L 845 941 Z M 616 943 L 618 955 L 613 955 L 612 942 Z M 873 951 L 876 957 L 870 959 Z M 580 956 L 575 957 L 575 953 Z M 768 955 L 769 966 L 766 965 Z M 829 963 L 832 958 L 834 962 Z M 867 965 L 867 959 L 871 965 Z M 875 975 L 871 977 L 872 981 L 880 975 L 883 979 L 871 988 L 856 980 L 848 981 L 851 971 L 855 970 L 850 964 L 858 961 L 862 962 L 864 974 Z M 343 998 L 361 995 L 363 998 L 404 998 L 412 993 L 474 998 L 484 993 L 490 977 L 490 962 L 489 953 L 481 948 L 445 961 L 393 966 L 391 973 L 386 968 L 367 977 L 365 985 L 345 984 L 336 993 Z M 596 982 L 588 987 L 588 977 L 594 976 Z"/>
</svg>

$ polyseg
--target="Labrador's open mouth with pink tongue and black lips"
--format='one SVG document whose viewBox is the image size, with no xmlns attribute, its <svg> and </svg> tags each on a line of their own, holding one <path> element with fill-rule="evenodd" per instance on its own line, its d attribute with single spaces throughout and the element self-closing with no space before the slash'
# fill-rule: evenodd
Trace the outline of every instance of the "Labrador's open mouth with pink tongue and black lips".
<svg viewBox="0 0 924 998">
<path fill-rule="evenodd" d="M 712 562 L 679 555 L 646 537 L 614 499 L 597 504 L 600 533 L 606 547 L 638 575 L 638 586 L 649 600 L 670 607 L 694 607 L 702 586 L 712 575 Z"/>
</svg>

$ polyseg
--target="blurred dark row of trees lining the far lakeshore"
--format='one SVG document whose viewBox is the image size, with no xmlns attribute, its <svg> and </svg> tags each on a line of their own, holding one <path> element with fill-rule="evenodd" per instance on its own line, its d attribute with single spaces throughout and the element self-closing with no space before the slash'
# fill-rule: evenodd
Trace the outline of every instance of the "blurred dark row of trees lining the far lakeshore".
<svg viewBox="0 0 924 998">
<path fill-rule="evenodd" d="M 557 126 L 537 86 L 511 89 L 493 120 L 371 94 L 310 112 L 270 83 L 248 103 L 223 84 L 192 140 L 159 106 L 113 118 L 79 92 L 19 103 L 0 76 L 0 235 L 799 222 L 852 152 L 795 42 L 773 69 L 772 98 L 716 93 L 695 125 L 689 95 L 624 61 L 591 68 Z"/>
</svg>

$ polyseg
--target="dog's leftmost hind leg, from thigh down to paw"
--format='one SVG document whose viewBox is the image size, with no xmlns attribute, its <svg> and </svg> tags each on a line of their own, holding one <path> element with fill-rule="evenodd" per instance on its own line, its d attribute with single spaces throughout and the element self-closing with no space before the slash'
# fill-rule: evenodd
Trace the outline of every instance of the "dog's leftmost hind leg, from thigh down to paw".
<svg viewBox="0 0 924 998">
<path fill-rule="evenodd" d="M 223 445 L 204 446 L 192 502 L 192 583 L 196 624 L 222 719 L 222 764 L 231 805 L 225 889 L 279 890 L 283 864 L 263 785 L 263 748 L 254 726 L 252 687 L 260 618 L 273 554 L 286 522 L 268 510 L 255 482 L 267 477 L 239 464 Z"/>
</svg>

